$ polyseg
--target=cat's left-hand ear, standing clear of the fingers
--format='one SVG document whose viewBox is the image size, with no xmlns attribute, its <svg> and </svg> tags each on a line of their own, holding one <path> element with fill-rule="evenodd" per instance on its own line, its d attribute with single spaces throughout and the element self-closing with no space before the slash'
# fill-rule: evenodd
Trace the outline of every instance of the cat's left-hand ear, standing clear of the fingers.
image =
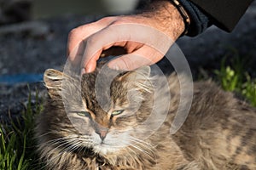
<svg viewBox="0 0 256 170">
<path fill-rule="evenodd" d="M 54 69 L 44 71 L 44 85 L 48 89 L 50 97 L 60 95 L 63 73 Z"/>
</svg>

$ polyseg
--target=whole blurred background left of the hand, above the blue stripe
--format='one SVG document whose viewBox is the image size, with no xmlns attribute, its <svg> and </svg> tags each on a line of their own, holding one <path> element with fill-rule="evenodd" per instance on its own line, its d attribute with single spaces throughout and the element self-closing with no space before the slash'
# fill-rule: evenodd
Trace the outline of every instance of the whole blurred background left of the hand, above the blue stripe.
<svg viewBox="0 0 256 170">
<path fill-rule="evenodd" d="M 0 75 L 42 73 L 46 63 L 63 65 L 68 32 L 74 27 L 107 15 L 131 14 L 146 2 L 0 0 Z"/>
</svg>

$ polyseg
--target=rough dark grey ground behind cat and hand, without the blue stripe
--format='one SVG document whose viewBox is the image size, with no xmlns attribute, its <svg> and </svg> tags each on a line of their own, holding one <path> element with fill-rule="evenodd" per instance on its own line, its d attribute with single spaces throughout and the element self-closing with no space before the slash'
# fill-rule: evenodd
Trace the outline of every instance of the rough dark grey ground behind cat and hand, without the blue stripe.
<svg viewBox="0 0 256 170">
<path fill-rule="evenodd" d="M 55 19 L 31 20 L 0 27 L 0 77 L 15 74 L 43 74 L 48 68 L 61 70 L 67 59 L 68 32 L 74 27 L 102 16 L 65 15 Z M 256 2 L 231 33 L 212 26 L 198 37 L 177 41 L 194 75 L 199 68 L 212 70 L 225 55 L 247 57 L 247 65 L 256 65 Z M 249 66 L 248 66 L 249 67 Z M 254 75 L 255 77 L 255 75 Z M 29 84 L 29 88 L 27 88 Z M 44 95 L 42 82 L 8 84 L 0 82 L 0 120 L 17 116 L 26 104 L 28 91 Z M 42 93 L 43 92 L 43 93 Z"/>
</svg>

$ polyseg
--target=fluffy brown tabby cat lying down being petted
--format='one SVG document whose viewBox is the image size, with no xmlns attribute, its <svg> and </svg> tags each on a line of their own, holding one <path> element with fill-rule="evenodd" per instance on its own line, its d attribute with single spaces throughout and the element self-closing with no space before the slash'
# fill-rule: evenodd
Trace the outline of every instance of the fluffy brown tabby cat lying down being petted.
<svg viewBox="0 0 256 170">
<path fill-rule="evenodd" d="M 46 169 L 256 169 L 256 110 L 233 94 L 212 81 L 195 82 L 189 115 L 171 134 L 181 99 L 177 75 L 167 77 L 169 88 L 162 88 L 166 77 L 152 76 L 149 66 L 107 70 L 99 80 L 101 67 L 85 73 L 81 86 L 61 71 L 44 72 L 49 99 L 38 116 L 35 138 Z M 103 85 L 109 75 L 117 77 L 108 90 Z M 160 87 L 154 89 L 154 82 Z M 168 106 L 166 116 L 156 111 L 164 117 L 157 128 L 154 121 L 143 123 L 155 110 L 155 100 L 161 104 L 157 110 Z"/>
</svg>

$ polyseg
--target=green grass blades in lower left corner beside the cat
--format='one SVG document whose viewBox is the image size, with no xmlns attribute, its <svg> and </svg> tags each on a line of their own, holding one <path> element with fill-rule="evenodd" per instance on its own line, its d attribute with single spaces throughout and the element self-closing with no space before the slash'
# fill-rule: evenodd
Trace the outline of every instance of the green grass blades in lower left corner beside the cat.
<svg viewBox="0 0 256 170">
<path fill-rule="evenodd" d="M 37 97 L 38 100 L 38 97 Z M 26 110 L 20 119 L 0 124 L 0 170 L 41 169 L 34 150 L 34 117 L 42 111 L 42 105 L 32 108 L 29 94 Z"/>
</svg>

